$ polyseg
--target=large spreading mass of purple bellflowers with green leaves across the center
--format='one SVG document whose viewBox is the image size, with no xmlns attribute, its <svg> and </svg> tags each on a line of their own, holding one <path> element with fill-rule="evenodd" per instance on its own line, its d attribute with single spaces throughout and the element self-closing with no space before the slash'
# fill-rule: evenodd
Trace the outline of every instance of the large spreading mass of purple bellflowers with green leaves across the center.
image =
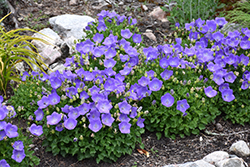
<svg viewBox="0 0 250 167">
<path fill-rule="evenodd" d="M 144 48 L 135 19 L 102 11 L 68 70 L 24 73 L 10 103 L 33 135 L 46 136 L 47 151 L 97 162 L 131 154 L 144 128 L 175 138 L 198 134 L 223 112 L 249 122 L 249 30 L 222 34 L 225 24 L 198 19 L 178 29 L 175 43 Z"/>
</svg>

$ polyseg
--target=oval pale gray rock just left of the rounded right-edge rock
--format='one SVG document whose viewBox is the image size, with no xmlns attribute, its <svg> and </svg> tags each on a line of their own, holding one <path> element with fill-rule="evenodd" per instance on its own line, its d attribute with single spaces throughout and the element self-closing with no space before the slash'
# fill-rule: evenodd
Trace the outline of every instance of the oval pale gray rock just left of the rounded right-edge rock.
<svg viewBox="0 0 250 167">
<path fill-rule="evenodd" d="M 224 159 L 228 159 L 229 154 L 225 151 L 215 151 L 203 158 L 204 161 L 210 163 L 210 164 L 215 164 L 216 162 L 222 161 Z"/>
</svg>

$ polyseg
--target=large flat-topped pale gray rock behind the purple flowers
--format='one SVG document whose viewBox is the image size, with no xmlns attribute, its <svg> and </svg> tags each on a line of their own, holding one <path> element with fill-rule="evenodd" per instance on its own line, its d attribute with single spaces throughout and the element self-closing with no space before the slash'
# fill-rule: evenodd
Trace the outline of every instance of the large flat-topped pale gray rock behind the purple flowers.
<svg viewBox="0 0 250 167">
<path fill-rule="evenodd" d="M 82 39 L 86 36 L 83 29 L 91 21 L 95 20 L 89 16 L 71 14 L 55 16 L 49 19 L 54 31 L 58 32 L 64 38 L 74 36 L 77 39 Z"/>
</svg>

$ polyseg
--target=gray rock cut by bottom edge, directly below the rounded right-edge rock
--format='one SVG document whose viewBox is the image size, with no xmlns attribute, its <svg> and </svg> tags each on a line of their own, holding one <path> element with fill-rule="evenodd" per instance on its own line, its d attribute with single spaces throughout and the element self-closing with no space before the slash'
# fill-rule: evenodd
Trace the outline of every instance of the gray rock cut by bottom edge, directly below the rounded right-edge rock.
<svg viewBox="0 0 250 167">
<path fill-rule="evenodd" d="M 216 167 L 246 167 L 243 159 L 230 158 L 216 162 Z"/>
</svg>

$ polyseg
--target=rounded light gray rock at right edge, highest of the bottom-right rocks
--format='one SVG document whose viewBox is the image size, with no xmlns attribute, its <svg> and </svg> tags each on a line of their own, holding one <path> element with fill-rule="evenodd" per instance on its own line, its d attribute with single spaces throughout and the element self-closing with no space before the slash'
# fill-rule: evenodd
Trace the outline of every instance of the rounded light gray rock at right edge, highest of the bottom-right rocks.
<svg viewBox="0 0 250 167">
<path fill-rule="evenodd" d="M 240 140 L 240 141 L 234 143 L 230 147 L 230 151 L 234 152 L 236 155 L 241 156 L 241 157 L 245 157 L 245 156 L 250 155 L 249 147 L 248 147 L 247 143 L 243 140 Z"/>
</svg>

